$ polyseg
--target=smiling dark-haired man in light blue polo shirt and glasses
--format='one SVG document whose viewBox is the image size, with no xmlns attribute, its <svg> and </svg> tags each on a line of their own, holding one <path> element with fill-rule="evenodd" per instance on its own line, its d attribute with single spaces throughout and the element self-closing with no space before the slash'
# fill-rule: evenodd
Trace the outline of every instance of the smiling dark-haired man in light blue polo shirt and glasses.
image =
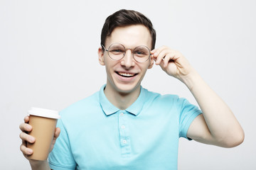
<svg viewBox="0 0 256 170">
<path fill-rule="evenodd" d="M 35 139 L 26 134 L 28 116 L 20 125 L 21 151 L 32 169 L 177 169 L 179 137 L 220 147 L 242 143 L 244 132 L 228 106 L 180 52 L 154 49 L 155 41 L 142 13 L 120 10 L 106 19 L 98 56 L 107 84 L 60 113 L 49 162 L 26 156 L 33 153 L 26 142 Z M 201 110 L 142 88 L 154 63 L 186 84 Z"/>
</svg>

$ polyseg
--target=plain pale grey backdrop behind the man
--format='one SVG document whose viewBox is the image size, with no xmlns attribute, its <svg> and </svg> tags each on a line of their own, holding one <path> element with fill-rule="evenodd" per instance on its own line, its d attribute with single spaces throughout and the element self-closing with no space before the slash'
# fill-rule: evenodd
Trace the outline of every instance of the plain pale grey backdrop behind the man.
<svg viewBox="0 0 256 170">
<path fill-rule="evenodd" d="M 31 106 L 60 111 L 98 91 L 97 48 L 105 18 L 120 8 L 148 16 L 156 47 L 179 50 L 228 103 L 245 130 L 225 149 L 180 140 L 178 169 L 256 169 L 256 1 L 0 1 L 0 169 L 30 169 L 18 126 Z M 161 68 L 142 86 L 196 104 Z M 171 145 L 171 144 L 170 144 Z"/>
</svg>

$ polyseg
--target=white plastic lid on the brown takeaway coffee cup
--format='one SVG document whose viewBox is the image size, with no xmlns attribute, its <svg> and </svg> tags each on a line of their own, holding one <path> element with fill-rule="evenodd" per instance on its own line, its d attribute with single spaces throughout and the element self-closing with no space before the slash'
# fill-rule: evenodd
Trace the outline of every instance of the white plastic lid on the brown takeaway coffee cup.
<svg viewBox="0 0 256 170">
<path fill-rule="evenodd" d="M 58 114 L 58 111 L 52 111 L 45 108 L 31 108 L 30 111 L 28 111 L 29 115 L 37 115 L 45 118 L 55 118 L 59 119 L 60 115 Z"/>
</svg>

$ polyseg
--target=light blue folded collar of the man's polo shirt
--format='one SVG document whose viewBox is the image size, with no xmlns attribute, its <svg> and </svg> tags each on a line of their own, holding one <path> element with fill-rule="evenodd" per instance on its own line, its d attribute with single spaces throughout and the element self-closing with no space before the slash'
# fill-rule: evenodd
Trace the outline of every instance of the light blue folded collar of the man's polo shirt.
<svg viewBox="0 0 256 170">
<path fill-rule="evenodd" d="M 110 101 L 107 100 L 107 97 L 105 96 L 105 93 L 104 93 L 105 86 L 106 84 L 100 88 L 100 94 L 99 94 L 100 106 L 102 107 L 102 110 L 106 115 L 112 115 L 120 111 L 120 109 L 115 107 L 112 103 L 110 103 Z M 132 113 L 133 115 L 139 115 L 139 113 L 141 113 L 142 108 L 144 106 L 145 96 L 146 96 L 145 89 L 143 89 L 142 86 L 140 86 L 139 97 L 125 111 Z"/>
</svg>

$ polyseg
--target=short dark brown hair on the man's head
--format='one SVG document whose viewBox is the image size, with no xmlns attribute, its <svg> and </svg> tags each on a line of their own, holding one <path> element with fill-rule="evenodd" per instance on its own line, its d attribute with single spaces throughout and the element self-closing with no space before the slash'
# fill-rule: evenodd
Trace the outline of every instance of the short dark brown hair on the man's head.
<svg viewBox="0 0 256 170">
<path fill-rule="evenodd" d="M 121 9 L 106 18 L 104 26 L 102 27 L 101 45 L 105 46 L 106 38 L 111 35 L 114 28 L 136 24 L 142 24 L 149 29 L 152 40 L 151 50 L 153 50 L 156 44 L 156 30 L 154 30 L 151 21 L 142 13 L 126 9 Z"/>
</svg>

